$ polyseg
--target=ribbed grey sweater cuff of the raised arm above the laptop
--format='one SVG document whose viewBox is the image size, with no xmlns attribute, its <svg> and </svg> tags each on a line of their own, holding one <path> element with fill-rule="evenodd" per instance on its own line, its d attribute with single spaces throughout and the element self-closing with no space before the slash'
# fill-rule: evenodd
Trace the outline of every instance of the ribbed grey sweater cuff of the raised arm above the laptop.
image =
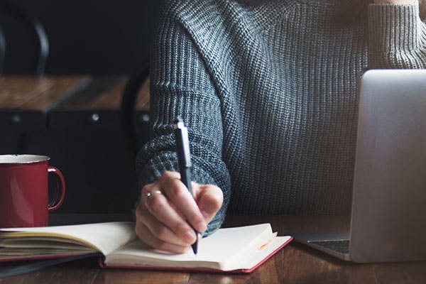
<svg viewBox="0 0 426 284">
<path fill-rule="evenodd" d="M 425 68 L 426 26 L 418 4 L 368 6 L 370 68 Z"/>
</svg>

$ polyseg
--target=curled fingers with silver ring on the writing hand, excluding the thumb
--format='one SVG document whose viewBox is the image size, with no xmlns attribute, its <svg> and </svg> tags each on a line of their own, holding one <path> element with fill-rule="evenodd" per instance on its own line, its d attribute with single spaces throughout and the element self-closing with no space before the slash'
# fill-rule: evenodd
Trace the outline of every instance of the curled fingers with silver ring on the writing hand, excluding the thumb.
<svg viewBox="0 0 426 284">
<path fill-rule="evenodd" d="M 143 187 L 141 203 L 136 208 L 136 234 L 139 238 L 156 249 L 175 253 L 186 251 L 196 241 L 196 233 L 185 216 L 196 212 L 204 222 L 194 197 L 179 178 L 177 173 L 165 173 L 157 182 Z M 192 209 L 182 209 L 188 206 Z M 205 222 L 204 226 L 207 226 Z"/>
</svg>

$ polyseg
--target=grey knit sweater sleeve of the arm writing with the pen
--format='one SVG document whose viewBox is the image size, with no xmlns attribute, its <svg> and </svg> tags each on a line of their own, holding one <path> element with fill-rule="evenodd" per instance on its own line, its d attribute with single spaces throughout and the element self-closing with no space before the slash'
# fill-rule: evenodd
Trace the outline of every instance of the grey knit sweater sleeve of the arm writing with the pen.
<svg viewBox="0 0 426 284">
<path fill-rule="evenodd" d="M 173 8 L 173 7 L 171 7 Z M 230 178 L 222 160 L 221 103 L 204 60 L 169 6 L 160 10 L 151 53 L 151 141 L 138 153 L 141 187 L 166 170 L 178 171 L 172 124 L 184 119 L 190 138 L 192 180 L 220 187 L 224 203 L 205 234 L 219 229 L 229 202 Z"/>
</svg>

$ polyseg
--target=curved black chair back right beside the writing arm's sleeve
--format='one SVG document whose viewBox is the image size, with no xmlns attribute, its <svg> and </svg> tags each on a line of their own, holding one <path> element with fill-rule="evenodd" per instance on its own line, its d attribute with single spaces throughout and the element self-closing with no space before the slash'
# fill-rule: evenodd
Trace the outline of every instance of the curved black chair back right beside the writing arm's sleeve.
<svg viewBox="0 0 426 284">
<path fill-rule="evenodd" d="M 124 137 L 124 143 L 126 146 L 126 152 L 129 155 L 131 167 L 134 169 L 134 160 L 141 147 L 143 141 L 138 131 L 138 124 L 136 124 L 136 99 L 138 92 L 148 79 L 149 75 L 149 63 L 146 62 L 141 68 L 133 72 L 130 76 L 129 81 L 124 88 L 123 96 L 121 97 L 120 106 L 120 123 L 121 131 Z"/>
</svg>

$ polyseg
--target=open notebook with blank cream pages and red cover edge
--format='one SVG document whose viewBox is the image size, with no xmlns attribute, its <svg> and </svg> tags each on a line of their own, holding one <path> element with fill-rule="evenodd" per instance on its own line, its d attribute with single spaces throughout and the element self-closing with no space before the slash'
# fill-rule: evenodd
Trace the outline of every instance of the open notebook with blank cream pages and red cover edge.
<svg viewBox="0 0 426 284">
<path fill-rule="evenodd" d="M 102 253 L 101 266 L 249 273 L 288 244 L 270 224 L 219 229 L 200 240 L 198 253 L 170 254 L 137 239 L 131 222 L 0 229 L 0 261 Z"/>
</svg>

